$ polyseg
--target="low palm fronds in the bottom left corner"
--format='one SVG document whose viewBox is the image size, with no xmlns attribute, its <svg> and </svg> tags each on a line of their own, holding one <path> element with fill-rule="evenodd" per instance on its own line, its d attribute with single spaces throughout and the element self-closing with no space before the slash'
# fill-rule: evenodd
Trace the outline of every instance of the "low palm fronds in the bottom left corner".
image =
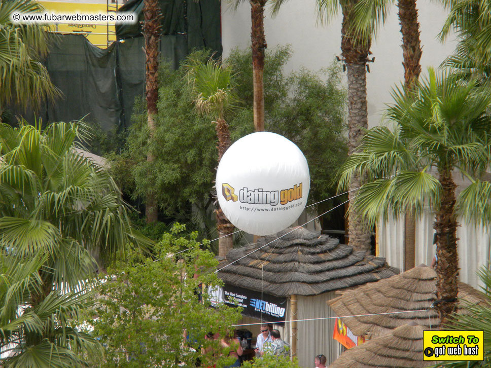
<svg viewBox="0 0 491 368">
<path fill-rule="evenodd" d="M 30 260 L 12 252 L 0 254 L 0 351 L 6 354 L 5 367 L 82 366 L 79 352 L 95 355 L 100 350 L 96 339 L 69 324 L 88 310 L 94 291 L 53 290 L 41 303 L 32 305 L 31 293 L 43 288 L 40 271 L 46 260 L 46 254 Z M 56 327 L 49 330 L 47 326 L 53 323 Z M 45 338 L 27 343 L 37 336 Z"/>
</svg>

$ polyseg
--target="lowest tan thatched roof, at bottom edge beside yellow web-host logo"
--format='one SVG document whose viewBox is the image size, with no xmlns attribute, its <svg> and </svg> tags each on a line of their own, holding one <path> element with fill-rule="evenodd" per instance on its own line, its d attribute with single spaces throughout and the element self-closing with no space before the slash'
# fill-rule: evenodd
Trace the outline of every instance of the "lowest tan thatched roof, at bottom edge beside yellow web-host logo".
<svg viewBox="0 0 491 368">
<path fill-rule="evenodd" d="M 423 331 L 420 325 L 399 326 L 391 333 L 345 351 L 329 368 L 419 368 L 438 363 L 423 360 Z"/>
</svg>

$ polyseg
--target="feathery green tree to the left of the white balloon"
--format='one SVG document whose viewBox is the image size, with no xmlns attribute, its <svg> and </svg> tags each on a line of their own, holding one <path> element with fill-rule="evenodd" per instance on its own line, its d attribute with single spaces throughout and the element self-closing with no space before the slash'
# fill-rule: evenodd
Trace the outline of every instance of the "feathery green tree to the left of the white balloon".
<svg viewBox="0 0 491 368">
<path fill-rule="evenodd" d="M 193 60 L 205 62 L 209 55 L 198 52 Z M 173 70 L 162 65 L 156 131 L 149 141 L 142 101 L 134 108 L 126 145 L 112 157 L 111 169 L 122 190 L 137 201 L 147 188 L 155 188 L 159 208 L 172 220 L 199 230 L 201 237 L 215 238 L 212 187 L 217 166 L 216 133 L 212 118 L 194 108 L 187 68 Z M 155 160 L 146 159 L 147 146 L 154 146 Z"/>
</svg>

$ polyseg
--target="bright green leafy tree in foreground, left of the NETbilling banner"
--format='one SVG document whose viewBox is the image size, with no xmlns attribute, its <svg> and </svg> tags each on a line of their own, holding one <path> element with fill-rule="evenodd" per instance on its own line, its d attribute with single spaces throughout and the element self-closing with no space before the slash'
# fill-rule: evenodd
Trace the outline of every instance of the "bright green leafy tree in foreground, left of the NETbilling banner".
<svg viewBox="0 0 491 368">
<path fill-rule="evenodd" d="M 206 335 L 230 335 L 240 309 L 211 307 L 206 287 L 221 284 L 214 272 L 218 261 L 212 252 L 200 249 L 196 233 L 180 236 L 183 230 L 176 225 L 163 236 L 158 260 L 133 255 L 110 270 L 114 276 L 101 285 L 93 322 L 106 359 L 93 366 L 231 364 L 220 340 Z"/>
</svg>

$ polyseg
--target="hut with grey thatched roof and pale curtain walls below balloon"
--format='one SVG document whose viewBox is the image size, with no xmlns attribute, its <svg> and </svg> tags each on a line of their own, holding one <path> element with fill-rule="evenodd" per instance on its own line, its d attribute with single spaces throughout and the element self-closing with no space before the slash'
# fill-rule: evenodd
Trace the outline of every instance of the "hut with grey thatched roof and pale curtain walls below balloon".
<svg viewBox="0 0 491 368">
<path fill-rule="evenodd" d="M 398 272 L 383 258 L 354 251 L 327 235 L 295 228 L 230 250 L 220 262 L 218 276 L 229 285 L 287 298 L 287 322 L 278 328 L 292 352 L 297 351 L 300 365 L 310 366 L 316 354 L 325 354 L 330 361 L 339 355 L 339 344 L 332 339 L 335 315 L 326 303 L 335 297 L 334 291 Z M 241 323 L 254 322 L 258 321 L 244 319 Z"/>
</svg>

